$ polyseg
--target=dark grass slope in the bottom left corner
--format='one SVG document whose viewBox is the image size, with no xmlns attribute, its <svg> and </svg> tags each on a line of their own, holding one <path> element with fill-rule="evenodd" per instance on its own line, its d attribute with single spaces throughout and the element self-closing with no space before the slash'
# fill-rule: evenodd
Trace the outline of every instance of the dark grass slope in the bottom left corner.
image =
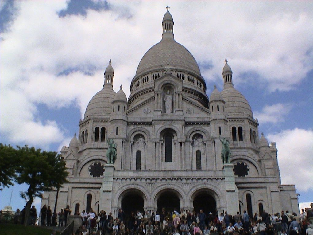
<svg viewBox="0 0 313 235">
<path fill-rule="evenodd" d="M 51 233 L 51 230 L 31 225 L 25 227 L 22 224 L 0 224 L 0 235 L 51 235 Z"/>
</svg>

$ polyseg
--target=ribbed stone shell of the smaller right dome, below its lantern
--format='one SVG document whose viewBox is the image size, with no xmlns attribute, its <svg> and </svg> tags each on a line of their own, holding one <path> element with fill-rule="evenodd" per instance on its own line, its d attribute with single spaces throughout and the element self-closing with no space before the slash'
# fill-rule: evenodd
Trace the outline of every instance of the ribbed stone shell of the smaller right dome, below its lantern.
<svg viewBox="0 0 313 235">
<path fill-rule="evenodd" d="M 246 98 L 233 86 L 228 86 L 221 92 L 225 101 L 225 112 L 229 115 L 243 116 L 244 113 L 252 117 L 251 107 Z"/>
</svg>

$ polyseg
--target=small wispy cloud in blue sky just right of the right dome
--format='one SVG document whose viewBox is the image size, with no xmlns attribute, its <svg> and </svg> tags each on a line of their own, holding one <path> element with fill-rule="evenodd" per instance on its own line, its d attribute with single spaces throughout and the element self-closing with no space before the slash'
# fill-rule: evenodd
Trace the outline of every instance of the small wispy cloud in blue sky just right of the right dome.
<svg viewBox="0 0 313 235">
<path fill-rule="evenodd" d="M 265 105 L 261 112 L 254 112 L 254 117 L 259 123 L 278 123 L 284 121 L 284 117 L 290 112 L 292 104 L 277 103 Z"/>
</svg>

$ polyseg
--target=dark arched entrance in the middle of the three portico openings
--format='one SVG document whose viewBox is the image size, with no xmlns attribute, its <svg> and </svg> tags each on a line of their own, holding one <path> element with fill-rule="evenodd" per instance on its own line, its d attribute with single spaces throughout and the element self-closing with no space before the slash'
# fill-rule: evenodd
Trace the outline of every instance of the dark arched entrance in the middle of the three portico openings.
<svg viewBox="0 0 313 235">
<path fill-rule="evenodd" d="M 157 199 L 157 210 L 162 211 L 162 208 L 165 208 L 167 212 L 173 212 L 176 209 L 180 211 L 180 200 L 177 196 L 177 193 L 173 191 L 163 191 Z"/>
</svg>

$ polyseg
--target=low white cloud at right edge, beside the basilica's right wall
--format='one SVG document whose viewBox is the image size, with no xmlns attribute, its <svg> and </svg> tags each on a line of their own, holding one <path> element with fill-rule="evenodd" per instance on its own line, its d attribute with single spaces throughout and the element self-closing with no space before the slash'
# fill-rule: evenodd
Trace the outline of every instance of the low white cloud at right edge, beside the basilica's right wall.
<svg viewBox="0 0 313 235">
<path fill-rule="evenodd" d="M 282 184 L 295 184 L 299 191 L 313 189 L 313 130 L 292 129 L 267 136 L 275 141 Z"/>
</svg>

